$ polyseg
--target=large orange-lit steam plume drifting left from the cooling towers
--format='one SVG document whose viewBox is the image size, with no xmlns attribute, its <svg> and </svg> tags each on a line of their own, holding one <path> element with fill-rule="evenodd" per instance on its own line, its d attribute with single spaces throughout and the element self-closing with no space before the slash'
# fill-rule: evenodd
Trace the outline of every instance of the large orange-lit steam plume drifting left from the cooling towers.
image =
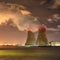
<svg viewBox="0 0 60 60">
<path fill-rule="evenodd" d="M 0 23 L 12 19 L 19 30 L 24 31 L 30 28 L 32 31 L 37 31 L 39 21 L 33 17 L 28 10 L 19 9 L 24 8 L 22 5 L 16 4 L 0 4 Z"/>
</svg>

